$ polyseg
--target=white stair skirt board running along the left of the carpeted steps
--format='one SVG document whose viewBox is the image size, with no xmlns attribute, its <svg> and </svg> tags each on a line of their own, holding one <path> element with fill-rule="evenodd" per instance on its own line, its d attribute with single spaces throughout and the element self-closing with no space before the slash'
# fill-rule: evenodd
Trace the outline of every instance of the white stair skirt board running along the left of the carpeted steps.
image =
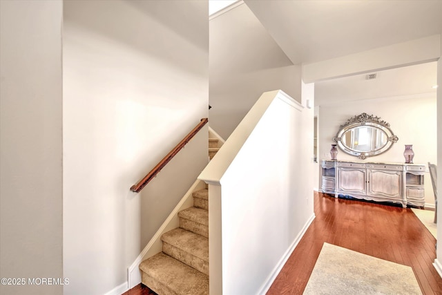
<svg viewBox="0 0 442 295">
<path fill-rule="evenodd" d="M 173 209 L 169 217 L 166 218 L 160 229 L 158 229 L 155 235 L 153 235 L 151 240 L 148 242 L 146 247 L 144 247 L 143 251 L 135 259 L 132 265 L 128 267 L 127 276 L 129 289 L 141 283 L 141 271 L 138 268 L 140 266 L 140 263 L 142 263 L 143 260 L 146 260 L 147 258 L 162 251 L 162 234 L 164 234 L 166 231 L 180 226 L 180 219 L 178 218 L 177 214 L 179 211 L 193 206 L 193 198 L 191 198 L 193 191 L 197 191 L 198 189 L 203 189 L 205 187 L 206 184 L 201 180 L 196 180 L 195 182 L 193 182 L 189 191 L 186 192 L 186 194 L 177 204 L 175 209 Z"/>
</svg>

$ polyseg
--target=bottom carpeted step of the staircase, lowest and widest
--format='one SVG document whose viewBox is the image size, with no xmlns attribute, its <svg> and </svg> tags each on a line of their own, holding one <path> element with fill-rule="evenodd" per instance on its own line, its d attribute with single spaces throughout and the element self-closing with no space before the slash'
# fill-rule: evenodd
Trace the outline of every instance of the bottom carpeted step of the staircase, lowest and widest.
<svg viewBox="0 0 442 295">
<path fill-rule="evenodd" d="M 142 283 L 162 295 L 209 294 L 209 276 L 164 253 L 140 264 Z"/>
</svg>

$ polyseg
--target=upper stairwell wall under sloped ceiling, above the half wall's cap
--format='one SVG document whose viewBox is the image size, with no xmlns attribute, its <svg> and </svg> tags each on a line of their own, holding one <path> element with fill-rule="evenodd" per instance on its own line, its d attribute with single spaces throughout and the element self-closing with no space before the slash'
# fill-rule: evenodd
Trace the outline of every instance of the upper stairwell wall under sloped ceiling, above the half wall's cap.
<svg viewBox="0 0 442 295">
<path fill-rule="evenodd" d="M 301 66 L 294 66 L 267 29 L 239 2 L 210 20 L 211 127 L 224 139 L 266 91 L 300 102 Z"/>
</svg>

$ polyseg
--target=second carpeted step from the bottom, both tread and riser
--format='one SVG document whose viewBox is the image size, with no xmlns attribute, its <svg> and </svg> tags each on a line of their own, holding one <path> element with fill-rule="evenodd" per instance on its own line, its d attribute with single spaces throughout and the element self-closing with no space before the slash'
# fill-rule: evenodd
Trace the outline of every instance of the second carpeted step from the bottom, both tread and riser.
<svg viewBox="0 0 442 295">
<path fill-rule="evenodd" d="M 163 252 L 209 275 L 209 239 L 184 229 L 164 234 Z"/>
</svg>

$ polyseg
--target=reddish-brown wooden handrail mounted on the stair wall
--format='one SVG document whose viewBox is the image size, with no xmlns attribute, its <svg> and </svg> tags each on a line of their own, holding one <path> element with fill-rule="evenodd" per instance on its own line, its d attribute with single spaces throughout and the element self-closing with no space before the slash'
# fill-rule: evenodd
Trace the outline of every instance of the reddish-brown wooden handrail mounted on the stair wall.
<svg viewBox="0 0 442 295">
<path fill-rule="evenodd" d="M 209 119 L 202 118 L 201 122 L 197 126 L 195 126 L 195 128 L 188 135 L 186 135 L 186 137 L 184 137 L 184 139 L 179 144 L 177 144 L 177 146 L 175 146 L 173 150 L 168 153 L 166 157 L 164 157 L 163 160 L 161 160 L 160 163 L 157 164 L 157 166 L 155 166 L 155 168 L 151 170 L 151 172 L 147 173 L 147 175 L 144 176 L 142 180 L 137 182 L 137 184 L 133 184 L 133 186 L 131 187 L 131 191 L 139 193 L 144 187 L 146 187 L 146 184 L 148 184 L 148 182 L 150 182 L 155 177 L 155 175 L 157 175 L 161 171 L 161 169 L 163 169 L 164 166 L 166 166 L 166 164 L 169 163 L 170 160 L 172 160 L 172 158 L 187 144 L 187 142 L 192 139 L 193 136 L 196 135 L 196 133 L 198 133 L 198 131 L 202 129 L 205 124 L 207 124 L 207 122 L 209 122 Z"/>
</svg>

